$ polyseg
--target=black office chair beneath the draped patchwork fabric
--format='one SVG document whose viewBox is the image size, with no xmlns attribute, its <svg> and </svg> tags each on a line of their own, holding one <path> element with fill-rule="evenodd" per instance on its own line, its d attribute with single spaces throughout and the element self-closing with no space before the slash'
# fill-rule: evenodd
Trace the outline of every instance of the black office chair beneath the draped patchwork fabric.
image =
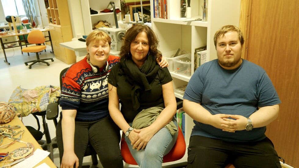
<svg viewBox="0 0 299 168">
<path fill-rule="evenodd" d="M 31 113 L 31 114 L 34 116 L 34 118 L 37 121 L 38 129 L 36 130 L 35 128 L 33 128 L 31 126 L 26 126 L 26 128 L 31 133 L 31 135 L 34 137 L 34 139 L 38 142 L 38 144 L 41 145 L 41 148 L 43 150 L 47 150 L 48 152 L 50 152 L 49 157 L 53 161 L 53 149 L 57 148 L 57 142 L 56 142 L 56 138 L 51 139 L 49 127 L 45 120 L 46 111 L 36 112 L 36 113 Z M 43 132 L 40 131 L 40 124 L 39 124 L 39 120 L 38 120 L 37 116 L 41 116 L 41 118 L 42 118 L 42 127 L 44 128 Z M 43 137 L 43 135 L 45 135 L 46 140 L 41 139 Z"/>
</svg>

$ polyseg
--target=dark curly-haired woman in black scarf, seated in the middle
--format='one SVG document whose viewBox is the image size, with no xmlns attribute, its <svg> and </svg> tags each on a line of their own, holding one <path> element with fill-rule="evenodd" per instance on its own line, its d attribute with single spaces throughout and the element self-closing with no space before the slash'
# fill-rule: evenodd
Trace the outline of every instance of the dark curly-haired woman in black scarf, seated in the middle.
<svg viewBox="0 0 299 168">
<path fill-rule="evenodd" d="M 162 55 L 158 43 L 149 26 L 128 29 L 120 63 L 108 77 L 110 116 L 126 133 L 139 167 L 145 168 L 161 167 L 178 135 L 172 78 L 168 69 L 155 61 Z"/>
</svg>

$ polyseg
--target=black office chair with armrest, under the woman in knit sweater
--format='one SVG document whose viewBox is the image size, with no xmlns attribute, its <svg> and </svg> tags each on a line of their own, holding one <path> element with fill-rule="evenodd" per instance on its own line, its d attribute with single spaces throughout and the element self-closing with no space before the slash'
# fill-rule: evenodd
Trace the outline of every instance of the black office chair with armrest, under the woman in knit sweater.
<svg viewBox="0 0 299 168">
<path fill-rule="evenodd" d="M 59 82 L 60 82 L 60 88 L 62 87 L 62 75 L 67 72 L 68 68 L 64 68 L 59 75 Z M 57 117 L 58 117 L 58 105 L 59 103 L 49 103 L 47 106 L 47 113 L 46 113 L 46 118 L 47 120 L 53 120 L 55 127 L 57 126 Z M 56 142 L 56 137 L 55 137 L 55 142 Z M 98 158 L 97 158 L 97 153 L 95 152 L 95 149 L 90 145 L 88 142 L 87 149 L 85 151 L 84 156 L 91 156 L 92 158 L 92 164 L 97 165 L 98 164 Z"/>
</svg>

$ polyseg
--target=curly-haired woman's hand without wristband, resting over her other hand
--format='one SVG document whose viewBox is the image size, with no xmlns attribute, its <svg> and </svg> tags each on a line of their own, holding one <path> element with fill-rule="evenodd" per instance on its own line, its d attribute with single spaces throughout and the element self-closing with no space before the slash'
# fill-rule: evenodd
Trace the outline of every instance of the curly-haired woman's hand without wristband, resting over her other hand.
<svg viewBox="0 0 299 168">
<path fill-rule="evenodd" d="M 134 129 L 134 132 L 137 132 L 139 137 L 139 139 L 133 145 L 133 149 L 137 149 L 137 151 L 144 149 L 149 140 L 155 135 L 155 132 L 149 127 Z"/>
</svg>

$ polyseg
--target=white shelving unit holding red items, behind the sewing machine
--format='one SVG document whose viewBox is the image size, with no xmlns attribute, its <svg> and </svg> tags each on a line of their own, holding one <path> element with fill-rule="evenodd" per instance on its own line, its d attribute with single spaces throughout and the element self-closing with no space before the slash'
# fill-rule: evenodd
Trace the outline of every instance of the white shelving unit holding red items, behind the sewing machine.
<svg viewBox="0 0 299 168">
<path fill-rule="evenodd" d="M 100 12 L 107 8 L 110 1 L 113 1 L 116 7 L 120 8 L 120 0 L 81 0 L 81 9 L 85 35 L 92 32 L 94 24 L 99 20 L 107 20 L 111 23 L 111 26 L 115 27 L 113 12 L 104 13 Z M 90 14 L 90 8 L 98 12 L 98 14 Z M 113 10 L 113 9 L 111 9 Z M 117 21 L 121 20 L 121 12 L 117 13 Z"/>
</svg>

